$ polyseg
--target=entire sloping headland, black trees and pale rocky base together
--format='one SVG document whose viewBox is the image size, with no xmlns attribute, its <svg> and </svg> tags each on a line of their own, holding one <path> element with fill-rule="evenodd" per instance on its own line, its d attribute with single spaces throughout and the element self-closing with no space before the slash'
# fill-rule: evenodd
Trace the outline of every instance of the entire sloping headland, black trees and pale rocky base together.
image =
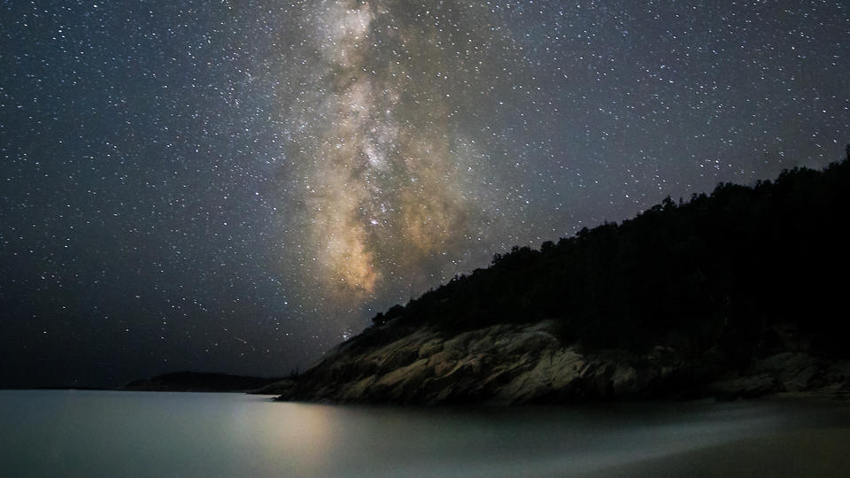
<svg viewBox="0 0 850 478">
<path fill-rule="evenodd" d="M 670 197 L 375 316 L 279 400 L 529 404 L 850 395 L 850 146 L 823 171 Z"/>
</svg>

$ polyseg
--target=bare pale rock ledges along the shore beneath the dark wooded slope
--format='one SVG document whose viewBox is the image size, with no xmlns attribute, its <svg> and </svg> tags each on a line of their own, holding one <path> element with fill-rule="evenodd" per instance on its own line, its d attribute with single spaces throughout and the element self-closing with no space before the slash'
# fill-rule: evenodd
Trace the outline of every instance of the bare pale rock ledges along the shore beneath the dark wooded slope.
<svg viewBox="0 0 850 478">
<path fill-rule="evenodd" d="M 783 351 L 724 369 L 708 352 L 684 358 L 657 346 L 645 354 L 564 345 L 552 322 L 496 325 L 446 336 L 431 328 L 375 344 L 374 328 L 337 347 L 299 377 L 265 393 L 321 403 L 495 405 L 571 403 L 627 397 L 755 397 L 820 390 L 846 396 L 850 362 Z M 373 343 L 370 343 L 373 342 Z"/>
</svg>

